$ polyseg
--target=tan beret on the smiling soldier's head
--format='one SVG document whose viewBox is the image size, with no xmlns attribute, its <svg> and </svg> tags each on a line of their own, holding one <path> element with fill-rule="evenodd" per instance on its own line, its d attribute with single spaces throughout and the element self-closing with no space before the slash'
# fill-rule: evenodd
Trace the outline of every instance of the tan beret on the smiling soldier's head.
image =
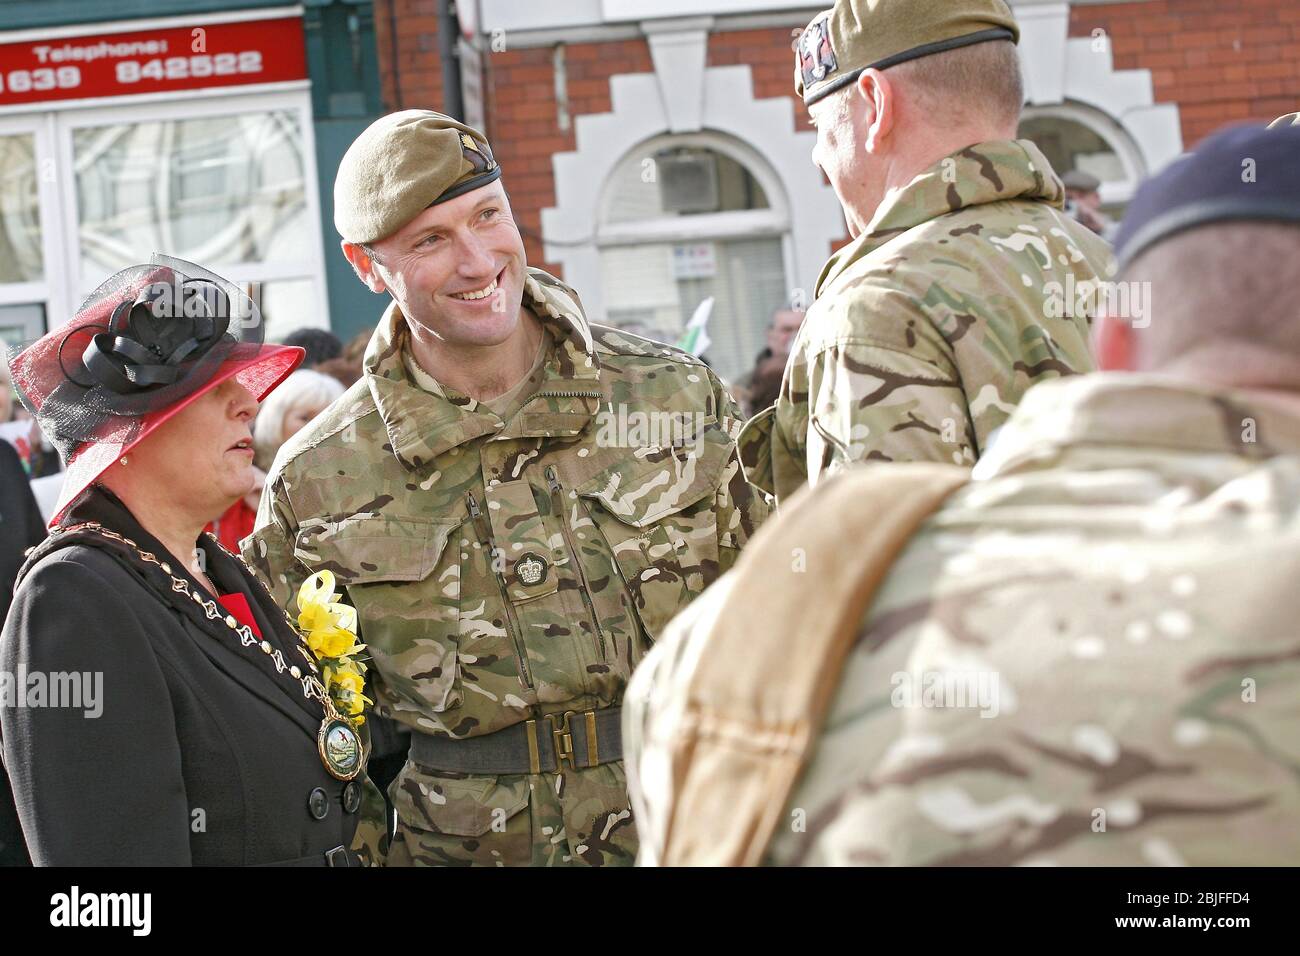
<svg viewBox="0 0 1300 956">
<path fill-rule="evenodd" d="M 424 209 L 500 178 L 482 133 L 432 109 L 372 122 L 334 177 L 334 228 L 347 242 L 378 242 Z"/>
</svg>

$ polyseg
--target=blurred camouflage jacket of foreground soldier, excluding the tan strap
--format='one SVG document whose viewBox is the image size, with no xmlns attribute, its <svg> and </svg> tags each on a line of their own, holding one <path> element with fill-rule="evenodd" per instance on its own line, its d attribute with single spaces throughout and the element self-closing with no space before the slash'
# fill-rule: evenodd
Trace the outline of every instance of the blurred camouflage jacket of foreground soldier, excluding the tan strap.
<svg viewBox="0 0 1300 956">
<path fill-rule="evenodd" d="M 1300 862 L 1300 406 L 1277 402 L 1127 375 L 1034 389 L 878 593 L 767 862 Z M 672 732 L 729 581 L 629 688 L 637 779 L 663 778 L 641 741 Z"/>
</svg>

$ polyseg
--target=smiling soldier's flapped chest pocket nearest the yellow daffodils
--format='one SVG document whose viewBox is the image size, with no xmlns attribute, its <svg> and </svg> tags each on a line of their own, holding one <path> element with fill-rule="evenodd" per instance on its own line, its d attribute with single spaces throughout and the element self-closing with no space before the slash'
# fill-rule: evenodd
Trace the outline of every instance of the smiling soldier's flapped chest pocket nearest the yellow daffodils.
<svg viewBox="0 0 1300 956">
<path fill-rule="evenodd" d="M 304 522 L 294 554 L 333 571 L 356 607 L 360 640 L 394 711 L 450 710 L 460 704 L 456 658 L 460 559 L 448 546 L 462 519 L 352 515 Z"/>
</svg>

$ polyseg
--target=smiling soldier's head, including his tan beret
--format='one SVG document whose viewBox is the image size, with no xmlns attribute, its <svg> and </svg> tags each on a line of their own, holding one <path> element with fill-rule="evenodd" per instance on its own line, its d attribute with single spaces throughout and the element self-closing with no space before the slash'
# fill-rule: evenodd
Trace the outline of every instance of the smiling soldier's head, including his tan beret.
<svg viewBox="0 0 1300 956">
<path fill-rule="evenodd" d="M 474 347 L 517 329 L 524 241 L 478 130 L 428 109 L 377 120 L 339 164 L 334 225 L 358 277 L 396 300 L 412 336 Z"/>
</svg>

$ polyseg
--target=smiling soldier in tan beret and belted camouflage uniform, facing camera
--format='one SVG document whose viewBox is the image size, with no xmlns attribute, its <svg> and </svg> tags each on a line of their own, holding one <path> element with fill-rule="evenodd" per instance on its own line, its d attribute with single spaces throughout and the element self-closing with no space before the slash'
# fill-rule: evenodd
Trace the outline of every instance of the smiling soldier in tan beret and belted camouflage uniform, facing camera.
<svg viewBox="0 0 1300 956">
<path fill-rule="evenodd" d="M 348 150 L 334 222 L 393 303 L 361 381 L 281 449 L 244 557 L 290 613 L 318 570 L 356 606 L 376 711 L 412 731 L 389 864 L 630 864 L 624 685 L 766 511 L 718 378 L 590 325 L 499 178 L 428 111 Z M 645 412 L 696 433 L 602 440 Z"/>
</svg>

